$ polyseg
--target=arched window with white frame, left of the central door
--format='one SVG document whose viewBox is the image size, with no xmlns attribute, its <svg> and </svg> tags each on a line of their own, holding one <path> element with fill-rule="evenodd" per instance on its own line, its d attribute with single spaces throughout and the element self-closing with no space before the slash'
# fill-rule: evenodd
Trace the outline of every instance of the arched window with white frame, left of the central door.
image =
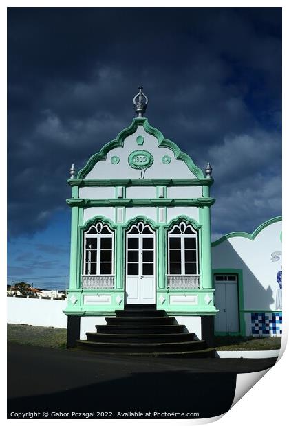
<svg viewBox="0 0 289 426">
<path fill-rule="evenodd" d="M 84 275 L 112 275 L 114 273 L 114 232 L 101 222 L 85 232 Z"/>
</svg>

